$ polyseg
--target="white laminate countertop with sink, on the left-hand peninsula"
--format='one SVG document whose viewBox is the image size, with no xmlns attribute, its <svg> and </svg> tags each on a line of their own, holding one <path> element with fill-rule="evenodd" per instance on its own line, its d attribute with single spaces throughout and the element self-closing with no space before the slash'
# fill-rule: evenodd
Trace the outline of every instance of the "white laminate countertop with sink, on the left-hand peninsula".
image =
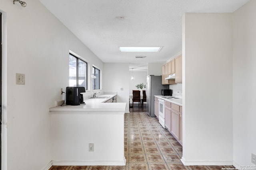
<svg viewBox="0 0 256 170">
<path fill-rule="evenodd" d="M 92 98 L 92 99 L 84 99 L 85 104 L 77 105 L 77 106 L 57 106 L 57 107 L 51 107 L 49 109 L 52 113 L 70 113 L 70 112 L 83 112 L 83 113 L 89 113 L 89 112 L 124 112 L 126 109 L 126 103 L 104 103 L 107 100 L 113 98 L 116 96 L 116 94 L 104 94 L 100 95 L 100 97 L 109 97 L 109 98 Z"/>
</svg>

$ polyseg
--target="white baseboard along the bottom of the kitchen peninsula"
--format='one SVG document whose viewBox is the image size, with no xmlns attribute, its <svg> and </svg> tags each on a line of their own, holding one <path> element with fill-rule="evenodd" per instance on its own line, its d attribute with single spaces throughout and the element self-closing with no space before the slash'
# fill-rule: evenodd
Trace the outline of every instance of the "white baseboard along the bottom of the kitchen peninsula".
<svg viewBox="0 0 256 170">
<path fill-rule="evenodd" d="M 53 160 L 52 166 L 96 166 L 96 165 L 107 165 L 107 166 L 125 166 L 126 158 L 123 161 L 76 161 L 76 160 Z"/>
</svg>

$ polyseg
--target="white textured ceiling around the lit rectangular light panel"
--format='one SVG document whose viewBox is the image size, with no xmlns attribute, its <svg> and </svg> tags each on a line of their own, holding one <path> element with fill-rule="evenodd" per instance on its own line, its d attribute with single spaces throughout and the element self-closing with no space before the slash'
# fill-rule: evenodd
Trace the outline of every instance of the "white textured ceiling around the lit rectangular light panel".
<svg viewBox="0 0 256 170">
<path fill-rule="evenodd" d="M 40 2 L 104 63 L 154 63 L 165 62 L 182 50 L 184 13 L 234 12 L 248 0 Z M 120 52 L 120 46 L 162 46 L 162 49 L 160 52 L 134 53 Z M 135 59 L 136 55 L 144 55 L 146 58 Z"/>
</svg>

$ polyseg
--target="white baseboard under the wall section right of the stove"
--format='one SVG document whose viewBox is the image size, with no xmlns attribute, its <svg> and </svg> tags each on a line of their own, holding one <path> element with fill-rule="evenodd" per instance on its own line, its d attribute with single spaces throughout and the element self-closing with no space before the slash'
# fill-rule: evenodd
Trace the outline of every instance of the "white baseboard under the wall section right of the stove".
<svg viewBox="0 0 256 170">
<path fill-rule="evenodd" d="M 208 161 L 208 160 L 190 160 L 190 161 L 186 161 L 184 159 L 184 157 L 182 156 L 182 158 L 180 159 L 181 162 L 185 165 L 185 166 L 193 166 L 193 165 L 218 165 L 218 166 L 229 166 L 229 165 L 233 165 L 233 161 L 232 160 L 214 160 L 214 161 Z"/>
</svg>

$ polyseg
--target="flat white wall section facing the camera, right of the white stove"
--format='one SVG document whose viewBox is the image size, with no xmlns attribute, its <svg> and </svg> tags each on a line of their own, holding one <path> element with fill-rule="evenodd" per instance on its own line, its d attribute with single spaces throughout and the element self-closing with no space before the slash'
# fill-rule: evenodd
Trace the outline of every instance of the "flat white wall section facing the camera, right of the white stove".
<svg viewBox="0 0 256 170">
<path fill-rule="evenodd" d="M 185 14 L 182 39 L 182 161 L 231 165 L 232 14 Z"/>
</svg>

